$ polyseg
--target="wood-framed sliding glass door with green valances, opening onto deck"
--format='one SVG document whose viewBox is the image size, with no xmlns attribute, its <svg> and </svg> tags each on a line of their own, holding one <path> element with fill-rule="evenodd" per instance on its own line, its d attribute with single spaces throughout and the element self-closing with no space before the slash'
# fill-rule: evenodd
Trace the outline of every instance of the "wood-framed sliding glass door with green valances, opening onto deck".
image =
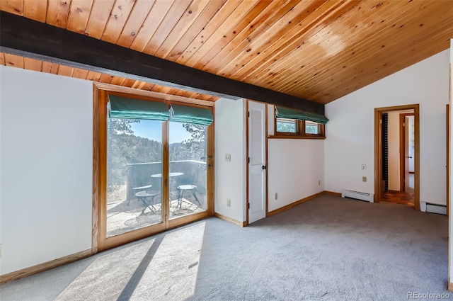
<svg viewBox="0 0 453 301">
<path fill-rule="evenodd" d="M 107 91 L 97 101 L 93 251 L 211 215 L 211 109 Z"/>
</svg>

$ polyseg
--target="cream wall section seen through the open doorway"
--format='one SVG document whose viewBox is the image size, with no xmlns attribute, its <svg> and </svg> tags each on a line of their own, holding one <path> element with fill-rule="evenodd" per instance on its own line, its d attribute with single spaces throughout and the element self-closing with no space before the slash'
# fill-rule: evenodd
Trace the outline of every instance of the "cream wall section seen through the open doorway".
<svg viewBox="0 0 453 301">
<path fill-rule="evenodd" d="M 399 191 L 399 111 L 389 112 L 389 190 Z M 372 181 L 372 178 L 369 179 Z"/>
</svg>

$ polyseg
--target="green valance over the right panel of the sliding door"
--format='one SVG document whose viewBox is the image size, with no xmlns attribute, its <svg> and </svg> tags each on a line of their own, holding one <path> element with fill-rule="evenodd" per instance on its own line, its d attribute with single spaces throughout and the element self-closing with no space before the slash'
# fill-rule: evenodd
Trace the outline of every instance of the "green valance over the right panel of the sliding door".
<svg viewBox="0 0 453 301">
<path fill-rule="evenodd" d="M 170 120 L 179 123 L 194 123 L 195 125 L 211 125 L 212 113 L 207 108 L 197 108 L 190 106 L 170 106 Z"/>
</svg>

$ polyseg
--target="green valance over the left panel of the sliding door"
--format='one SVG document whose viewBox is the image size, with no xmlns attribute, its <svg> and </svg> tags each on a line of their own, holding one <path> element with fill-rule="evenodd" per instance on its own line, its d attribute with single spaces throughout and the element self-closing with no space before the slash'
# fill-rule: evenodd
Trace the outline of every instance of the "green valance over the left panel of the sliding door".
<svg viewBox="0 0 453 301">
<path fill-rule="evenodd" d="M 170 113 L 166 103 L 142 101 L 135 98 L 109 95 L 110 118 L 168 120 Z"/>
</svg>

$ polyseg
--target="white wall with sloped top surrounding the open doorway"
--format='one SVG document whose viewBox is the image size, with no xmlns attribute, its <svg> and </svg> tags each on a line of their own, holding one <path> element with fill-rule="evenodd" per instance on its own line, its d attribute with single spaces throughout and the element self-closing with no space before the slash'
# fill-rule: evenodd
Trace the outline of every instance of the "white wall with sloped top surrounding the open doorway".
<svg viewBox="0 0 453 301">
<path fill-rule="evenodd" d="M 420 201 L 446 204 L 449 50 L 326 105 L 326 190 L 374 193 L 374 108 L 420 103 Z M 361 164 L 367 164 L 362 171 Z M 362 176 L 368 181 L 362 182 Z"/>
</svg>

